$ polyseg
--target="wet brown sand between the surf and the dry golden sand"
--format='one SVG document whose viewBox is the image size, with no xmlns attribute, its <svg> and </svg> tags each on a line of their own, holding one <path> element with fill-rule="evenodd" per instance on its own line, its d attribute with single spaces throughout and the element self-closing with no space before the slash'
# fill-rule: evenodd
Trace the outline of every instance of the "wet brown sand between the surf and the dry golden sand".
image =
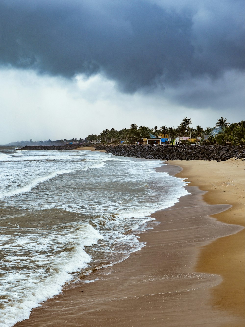
<svg viewBox="0 0 245 327">
<path fill-rule="evenodd" d="M 180 166 L 181 163 L 171 162 Z M 188 163 L 193 162 L 184 163 L 186 171 L 184 167 L 181 177 L 188 176 L 188 181 L 194 183 L 188 171 Z M 171 165 L 163 167 L 169 171 Z M 173 166 L 173 174 L 178 172 Z M 239 312 L 228 312 L 230 308 L 213 302 L 213 290 L 224 284 L 221 277 L 202 270 L 209 267 L 208 262 L 199 266 L 203 251 L 227 238 L 217 237 L 228 234 L 234 237 L 244 231 L 237 233 L 239 226 L 223 224 L 206 215 L 222 212 L 215 216 L 219 219 L 224 213 L 239 208 L 235 202 L 225 201 L 224 194 L 220 203 L 233 204 L 233 208 L 224 211 L 230 206 L 208 205 L 202 199 L 207 193 L 196 186 L 186 188 L 190 195 L 152 215 L 161 224 L 139 235 L 146 247 L 133 252 L 125 261 L 94 271 L 80 283 L 67 287 L 62 294 L 34 309 L 30 319 L 15 326 L 243 326 Z M 208 221 L 207 225 L 204 220 Z M 233 220 L 230 223 L 237 224 Z M 197 260 L 200 251 L 201 259 Z M 84 283 L 90 280 L 96 281 Z"/>
</svg>

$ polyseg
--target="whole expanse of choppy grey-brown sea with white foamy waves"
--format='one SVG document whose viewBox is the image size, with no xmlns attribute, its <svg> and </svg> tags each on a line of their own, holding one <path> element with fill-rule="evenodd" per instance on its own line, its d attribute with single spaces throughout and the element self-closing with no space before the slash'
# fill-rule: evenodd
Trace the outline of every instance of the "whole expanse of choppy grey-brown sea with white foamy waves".
<svg viewBox="0 0 245 327">
<path fill-rule="evenodd" d="M 0 327 L 128 258 L 150 217 L 188 194 L 160 160 L 0 146 Z"/>
</svg>

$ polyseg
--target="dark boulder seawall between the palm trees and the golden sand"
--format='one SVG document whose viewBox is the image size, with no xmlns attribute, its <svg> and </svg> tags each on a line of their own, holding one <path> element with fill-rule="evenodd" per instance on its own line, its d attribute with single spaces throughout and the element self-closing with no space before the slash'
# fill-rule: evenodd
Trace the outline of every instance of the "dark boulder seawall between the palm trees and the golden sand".
<svg viewBox="0 0 245 327">
<path fill-rule="evenodd" d="M 216 160 L 245 158 L 242 146 L 191 146 L 191 145 L 95 145 L 96 150 L 105 150 L 116 156 L 161 159 L 161 160 Z"/>
</svg>

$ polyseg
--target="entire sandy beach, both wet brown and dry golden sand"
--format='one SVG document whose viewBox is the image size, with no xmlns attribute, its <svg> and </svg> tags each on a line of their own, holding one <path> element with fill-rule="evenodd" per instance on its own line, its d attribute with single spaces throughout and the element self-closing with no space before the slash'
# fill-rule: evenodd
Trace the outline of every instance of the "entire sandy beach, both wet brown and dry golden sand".
<svg viewBox="0 0 245 327">
<path fill-rule="evenodd" d="M 244 170 L 235 159 L 157 168 L 186 178 L 189 194 L 152 215 L 146 246 L 15 326 L 244 326 Z"/>
</svg>

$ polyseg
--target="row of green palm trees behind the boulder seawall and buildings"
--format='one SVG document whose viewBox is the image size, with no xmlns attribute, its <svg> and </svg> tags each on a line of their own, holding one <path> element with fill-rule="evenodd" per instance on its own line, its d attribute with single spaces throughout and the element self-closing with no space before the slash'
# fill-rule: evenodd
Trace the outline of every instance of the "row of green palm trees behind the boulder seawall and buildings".
<svg viewBox="0 0 245 327">
<path fill-rule="evenodd" d="M 228 123 L 227 119 L 221 117 L 217 120 L 214 127 L 206 127 L 203 129 L 200 125 L 196 128 L 191 127 L 191 118 L 185 117 L 177 128 L 162 126 L 158 128 L 149 128 L 147 126 L 137 126 L 131 124 L 128 129 L 116 130 L 105 129 L 99 135 L 88 135 L 89 142 L 99 141 L 103 144 L 106 143 L 123 143 L 134 144 L 135 142 L 142 142 L 142 138 L 151 138 L 152 136 L 161 138 L 176 138 L 176 137 L 189 137 L 190 139 L 199 139 L 201 144 L 207 145 L 243 145 L 245 144 L 245 121 L 239 123 Z M 213 132 L 217 129 L 216 134 Z M 208 136 L 205 139 L 205 135 Z M 188 144 L 188 141 L 183 141 L 183 144 Z"/>
</svg>

